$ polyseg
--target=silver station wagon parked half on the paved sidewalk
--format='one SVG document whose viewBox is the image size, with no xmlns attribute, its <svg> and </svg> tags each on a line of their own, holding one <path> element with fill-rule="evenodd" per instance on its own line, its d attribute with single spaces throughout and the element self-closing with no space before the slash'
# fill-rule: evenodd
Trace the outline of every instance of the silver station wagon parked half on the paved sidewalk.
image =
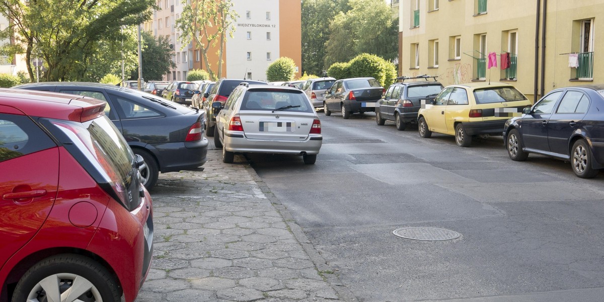
<svg viewBox="0 0 604 302">
<path fill-rule="evenodd" d="M 303 91 L 274 85 L 241 83 L 224 106 L 212 103 L 216 115 L 214 144 L 223 162 L 235 153 L 301 155 L 314 164 L 321 149 L 321 121 Z"/>
</svg>

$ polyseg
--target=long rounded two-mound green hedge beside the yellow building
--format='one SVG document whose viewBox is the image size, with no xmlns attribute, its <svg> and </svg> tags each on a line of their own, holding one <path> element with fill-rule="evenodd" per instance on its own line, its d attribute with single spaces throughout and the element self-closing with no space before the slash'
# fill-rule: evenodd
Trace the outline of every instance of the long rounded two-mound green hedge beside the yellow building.
<svg viewBox="0 0 604 302">
<path fill-rule="evenodd" d="M 333 63 L 327 69 L 327 75 L 338 80 L 373 77 L 382 87 L 388 88 L 396 79 L 396 67 L 393 63 L 373 54 L 359 54 L 348 63 Z"/>
</svg>

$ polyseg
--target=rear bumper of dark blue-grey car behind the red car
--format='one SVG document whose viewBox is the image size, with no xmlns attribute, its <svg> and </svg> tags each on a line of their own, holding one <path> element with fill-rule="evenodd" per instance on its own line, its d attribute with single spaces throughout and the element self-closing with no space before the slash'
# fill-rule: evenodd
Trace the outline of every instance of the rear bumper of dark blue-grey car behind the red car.
<svg viewBox="0 0 604 302">
<path fill-rule="evenodd" d="M 184 143 L 153 144 L 153 153 L 158 157 L 161 173 L 194 170 L 208 160 L 208 140 Z"/>
</svg>

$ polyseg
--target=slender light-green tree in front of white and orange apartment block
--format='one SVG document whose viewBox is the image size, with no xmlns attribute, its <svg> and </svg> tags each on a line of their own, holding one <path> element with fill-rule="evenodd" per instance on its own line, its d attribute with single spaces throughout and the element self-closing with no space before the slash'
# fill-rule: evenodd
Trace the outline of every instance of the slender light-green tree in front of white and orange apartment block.
<svg viewBox="0 0 604 302">
<path fill-rule="evenodd" d="M 178 0 L 177 0 L 178 1 Z M 211 80 L 222 77 L 222 54 L 226 43 L 226 35 L 233 37 L 234 22 L 237 14 L 231 0 L 191 0 L 182 2 L 181 18 L 176 20 L 176 27 L 182 31 L 182 45 L 188 45 L 193 40 L 201 49 L 201 66 L 210 74 Z M 218 62 L 209 62 L 208 51 L 218 45 Z M 216 63 L 216 69 L 213 65 Z"/>
</svg>

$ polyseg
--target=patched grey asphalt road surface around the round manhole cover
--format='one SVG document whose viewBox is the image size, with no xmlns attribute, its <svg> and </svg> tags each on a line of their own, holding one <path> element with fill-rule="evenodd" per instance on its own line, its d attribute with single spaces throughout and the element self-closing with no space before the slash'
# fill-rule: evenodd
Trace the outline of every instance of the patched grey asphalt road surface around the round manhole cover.
<svg viewBox="0 0 604 302">
<path fill-rule="evenodd" d="M 377 126 L 373 114 L 319 114 L 315 165 L 249 159 L 359 301 L 602 301 L 604 172 L 513 162 L 501 137 L 461 148 Z M 394 236 L 403 227 L 461 236 Z"/>
</svg>

